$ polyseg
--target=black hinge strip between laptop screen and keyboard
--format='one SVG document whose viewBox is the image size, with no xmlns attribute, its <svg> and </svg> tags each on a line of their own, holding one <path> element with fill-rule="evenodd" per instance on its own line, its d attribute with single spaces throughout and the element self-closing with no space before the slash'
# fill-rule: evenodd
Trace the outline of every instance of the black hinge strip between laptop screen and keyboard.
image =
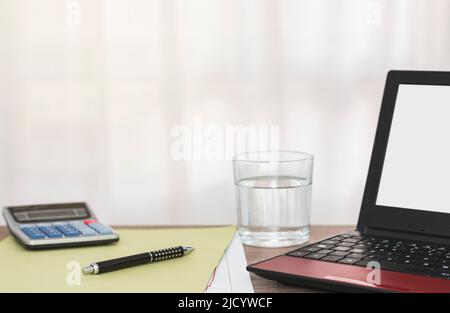
<svg viewBox="0 0 450 313">
<path fill-rule="evenodd" d="M 450 237 L 437 236 L 429 234 L 421 234 L 415 232 L 392 230 L 379 227 L 365 227 L 363 230 L 359 230 L 362 234 L 374 237 L 394 238 L 399 240 L 426 242 L 434 244 L 449 245 Z"/>
</svg>

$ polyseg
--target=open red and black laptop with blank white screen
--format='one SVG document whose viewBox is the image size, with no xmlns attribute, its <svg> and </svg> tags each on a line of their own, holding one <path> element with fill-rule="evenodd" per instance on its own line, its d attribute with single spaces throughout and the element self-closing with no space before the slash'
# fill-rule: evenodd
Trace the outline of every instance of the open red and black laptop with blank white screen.
<svg viewBox="0 0 450 313">
<path fill-rule="evenodd" d="M 356 229 L 247 270 L 339 292 L 442 293 L 449 267 L 450 72 L 390 71 Z"/>
</svg>

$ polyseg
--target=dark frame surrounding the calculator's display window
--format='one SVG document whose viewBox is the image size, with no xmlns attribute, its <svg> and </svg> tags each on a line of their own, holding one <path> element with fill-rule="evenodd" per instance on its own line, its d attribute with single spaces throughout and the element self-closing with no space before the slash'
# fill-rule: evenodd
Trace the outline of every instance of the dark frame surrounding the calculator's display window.
<svg viewBox="0 0 450 313">
<path fill-rule="evenodd" d="M 57 210 L 57 209 L 80 209 L 83 208 L 87 216 L 86 217 L 66 217 L 66 218 L 57 218 L 57 219 L 40 219 L 39 221 L 19 221 L 14 213 L 17 212 L 27 212 L 27 211 L 39 211 L 39 210 Z M 36 224 L 36 223 L 48 223 L 48 222 L 56 222 L 56 221 L 72 221 L 72 220 L 84 220 L 90 219 L 92 217 L 91 211 L 85 202 L 77 202 L 77 203 L 58 203 L 58 204 L 37 204 L 37 205 L 21 205 L 21 206 L 13 206 L 7 207 L 11 216 L 19 224 Z"/>
</svg>

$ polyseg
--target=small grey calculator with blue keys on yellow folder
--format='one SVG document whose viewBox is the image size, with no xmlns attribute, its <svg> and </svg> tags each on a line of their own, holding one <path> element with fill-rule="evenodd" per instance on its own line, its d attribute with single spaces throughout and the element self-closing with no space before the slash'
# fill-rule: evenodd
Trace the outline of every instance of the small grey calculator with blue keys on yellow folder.
<svg viewBox="0 0 450 313">
<path fill-rule="evenodd" d="M 119 240 L 119 234 L 97 221 L 84 202 L 10 206 L 3 208 L 3 216 L 11 234 L 31 250 Z"/>
</svg>

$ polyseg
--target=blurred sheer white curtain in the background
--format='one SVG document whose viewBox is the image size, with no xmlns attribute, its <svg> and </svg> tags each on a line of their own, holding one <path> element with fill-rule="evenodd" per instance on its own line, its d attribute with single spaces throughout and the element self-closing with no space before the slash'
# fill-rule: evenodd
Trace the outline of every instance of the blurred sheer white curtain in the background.
<svg viewBox="0 0 450 313">
<path fill-rule="evenodd" d="M 279 125 L 313 223 L 355 223 L 386 72 L 450 70 L 446 0 L 0 0 L 0 204 L 113 224 L 235 222 L 229 160 L 176 125 Z"/>
</svg>

